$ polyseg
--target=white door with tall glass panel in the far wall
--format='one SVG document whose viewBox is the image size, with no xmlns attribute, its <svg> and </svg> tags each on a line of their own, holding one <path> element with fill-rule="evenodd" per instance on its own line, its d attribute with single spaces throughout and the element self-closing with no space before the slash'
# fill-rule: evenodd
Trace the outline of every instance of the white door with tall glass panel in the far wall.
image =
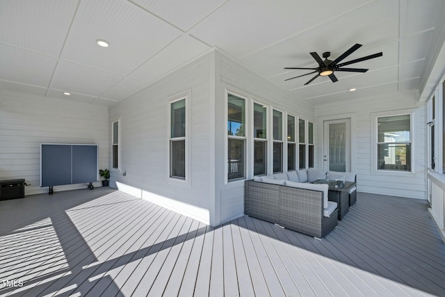
<svg viewBox="0 0 445 297">
<path fill-rule="evenodd" d="M 323 169 L 350 171 L 350 119 L 325 120 L 323 125 Z"/>
</svg>

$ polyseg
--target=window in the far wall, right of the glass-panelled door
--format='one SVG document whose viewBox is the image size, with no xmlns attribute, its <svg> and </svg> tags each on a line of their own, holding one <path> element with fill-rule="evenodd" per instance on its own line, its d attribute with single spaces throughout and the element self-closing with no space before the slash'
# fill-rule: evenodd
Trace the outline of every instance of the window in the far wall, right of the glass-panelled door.
<svg viewBox="0 0 445 297">
<path fill-rule="evenodd" d="M 378 170 L 411 171 L 411 115 L 377 118 Z"/>
</svg>

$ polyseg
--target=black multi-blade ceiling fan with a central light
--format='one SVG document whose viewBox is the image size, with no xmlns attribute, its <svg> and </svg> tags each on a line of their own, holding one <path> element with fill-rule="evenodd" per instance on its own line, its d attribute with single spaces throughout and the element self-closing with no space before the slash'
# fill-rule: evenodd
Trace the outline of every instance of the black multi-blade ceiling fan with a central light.
<svg viewBox="0 0 445 297">
<path fill-rule="evenodd" d="M 298 77 L 304 77 L 305 75 L 309 75 L 309 74 L 318 72 L 316 74 L 316 76 L 312 77 L 312 79 L 310 79 L 307 83 L 305 83 L 305 85 L 312 83 L 312 81 L 314 81 L 314 79 L 316 79 L 317 77 L 329 77 L 331 79 L 331 81 L 334 83 L 334 82 L 338 81 L 337 77 L 335 77 L 335 75 L 334 75 L 334 72 L 336 72 L 336 71 L 366 72 L 369 70 L 369 69 L 364 69 L 364 68 L 344 68 L 343 66 L 383 56 L 383 53 L 380 52 L 380 53 L 369 55 L 366 57 L 357 58 L 355 60 L 351 60 L 348 62 L 339 63 L 340 61 L 343 61 L 343 59 L 346 58 L 347 56 L 349 56 L 350 54 L 353 54 L 354 51 L 357 51 L 357 49 L 359 49 L 359 47 L 362 47 L 362 45 L 359 45 L 358 43 L 356 43 L 355 45 L 353 45 L 353 47 L 351 47 L 350 49 L 345 51 L 343 54 L 341 54 L 338 58 L 336 58 L 333 61 L 328 59 L 331 55 L 330 51 L 326 51 L 323 53 L 323 58 L 325 58 L 325 61 L 323 61 L 320 58 L 320 56 L 318 56 L 318 54 L 316 52 L 312 52 L 311 55 L 312 55 L 312 57 L 314 57 L 315 61 L 317 61 L 318 67 L 314 67 L 314 68 L 285 67 L 284 69 L 315 70 L 314 72 L 302 74 L 302 75 L 299 75 Z M 290 79 L 296 79 L 296 78 L 297 77 L 291 77 Z M 289 81 L 289 79 L 285 79 L 285 81 Z"/>
</svg>

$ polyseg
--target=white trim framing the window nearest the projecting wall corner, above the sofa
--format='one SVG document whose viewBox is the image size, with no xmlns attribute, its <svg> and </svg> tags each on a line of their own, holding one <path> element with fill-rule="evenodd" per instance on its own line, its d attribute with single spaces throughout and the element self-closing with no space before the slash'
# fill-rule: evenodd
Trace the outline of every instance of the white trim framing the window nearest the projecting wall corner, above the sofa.
<svg viewBox="0 0 445 297">
<path fill-rule="evenodd" d="M 227 114 L 229 112 L 229 106 L 228 106 L 229 105 L 229 94 L 232 94 L 232 95 L 234 95 L 236 97 L 240 97 L 241 99 L 245 100 L 245 105 L 244 105 L 245 106 L 244 136 L 229 135 L 229 133 L 227 131 L 227 122 L 229 121 L 229 115 Z M 250 119 L 250 116 L 249 116 L 249 110 L 250 110 L 249 105 L 250 104 L 249 104 L 249 102 L 250 102 L 249 97 L 241 95 L 241 94 L 239 94 L 237 92 L 234 92 L 232 90 L 225 89 L 225 94 L 224 94 L 224 119 L 225 119 L 225 122 L 224 122 L 225 123 L 225 129 L 224 129 L 225 130 L 225 139 L 224 139 L 224 147 L 225 147 L 225 150 L 224 150 L 224 160 L 225 160 L 225 163 L 224 163 L 224 183 L 225 184 L 233 184 L 233 183 L 236 183 L 236 182 L 244 182 L 245 179 L 248 179 L 248 177 L 249 177 L 249 166 L 248 166 L 249 162 L 247 160 L 247 158 L 248 158 L 248 147 L 249 147 L 249 144 L 248 144 L 248 135 L 249 135 L 249 133 L 248 133 L 248 131 L 249 131 L 250 127 L 251 127 L 249 125 L 249 119 Z M 230 180 L 229 180 L 229 171 L 228 171 L 228 168 L 227 168 L 227 164 L 229 163 L 229 152 L 228 152 L 229 138 L 244 140 L 244 177 L 240 177 L 240 178 L 237 178 L 237 179 L 230 179 Z"/>
</svg>

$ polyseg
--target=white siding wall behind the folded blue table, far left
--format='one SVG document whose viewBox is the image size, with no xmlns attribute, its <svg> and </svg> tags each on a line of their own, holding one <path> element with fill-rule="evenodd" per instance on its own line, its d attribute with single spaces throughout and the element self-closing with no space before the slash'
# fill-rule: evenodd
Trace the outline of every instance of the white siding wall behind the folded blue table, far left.
<svg viewBox="0 0 445 297">
<path fill-rule="evenodd" d="M 26 195 L 48 191 L 40 188 L 40 143 L 97 144 L 99 166 L 108 167 L 108 107 L 1 92 L 0 179 L 24 178 L 31 184 Z M 72 188 L 86 185 L 55 186 L 54 191 Z"/>
</svg>

